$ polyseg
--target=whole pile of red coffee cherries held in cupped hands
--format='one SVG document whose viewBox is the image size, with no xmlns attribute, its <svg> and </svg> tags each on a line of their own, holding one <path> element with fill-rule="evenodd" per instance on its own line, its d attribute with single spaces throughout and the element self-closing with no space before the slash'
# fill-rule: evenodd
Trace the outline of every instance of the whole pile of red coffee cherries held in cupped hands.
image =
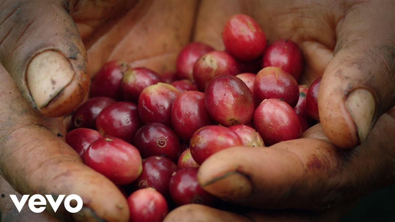
<svg viewBox="0 0 395 222">
<path fill-rule="evenodd" d="M 320 79 L 298 85 L 303 56 L 295 43 L 267 45 L 243 14 L 229 19 L 222 38 L 226 51 L 186 45 L 174 73 L 107 62 L 73 112 L 66 142 L 119 186 L 130 221 L 162 221 L 188 203 L 215 207 L 220 200 L 197 180 L 209 156 L 297 139 L 318 120 Z"/>
</svg>

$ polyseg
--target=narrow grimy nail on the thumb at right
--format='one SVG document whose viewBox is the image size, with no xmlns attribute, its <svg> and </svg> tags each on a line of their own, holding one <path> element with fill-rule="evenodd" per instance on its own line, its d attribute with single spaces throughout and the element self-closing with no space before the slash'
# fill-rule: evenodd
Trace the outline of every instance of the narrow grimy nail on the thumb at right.
<svg viewBox="0 0 395 222">
<path fill-rule="evenodd" d="M 357 88 L 348 94 L 346 107 L 357 128 L 359 143 L 363 143 L 371 128 L 376 101 L 369 90 Z"/>
</svg>

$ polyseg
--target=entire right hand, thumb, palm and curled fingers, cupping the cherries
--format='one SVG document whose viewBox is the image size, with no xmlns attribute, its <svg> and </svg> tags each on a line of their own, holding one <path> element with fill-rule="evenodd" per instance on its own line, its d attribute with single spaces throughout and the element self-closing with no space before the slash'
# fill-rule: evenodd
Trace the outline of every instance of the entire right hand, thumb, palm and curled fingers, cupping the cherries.
<svg viewBox="0 0 395 222">
<path fill-rule="evenodd" d="M 205 190 L 258 212 L 245 217 L 186 205 L 171 212 L 167 222 L 335 221 L 360 196 L 394 182 L 393 3 L 254 3 L 203 1 L 195 40 L 224 49 L 217 30 L 231 15 L 246 13 L 269 41 L 297 42 L 305 58 L 303 83 L 324 74 L 321 124 L 302 139 L 226 149 L 201 165 L 198 179 Z"/>
</svg>

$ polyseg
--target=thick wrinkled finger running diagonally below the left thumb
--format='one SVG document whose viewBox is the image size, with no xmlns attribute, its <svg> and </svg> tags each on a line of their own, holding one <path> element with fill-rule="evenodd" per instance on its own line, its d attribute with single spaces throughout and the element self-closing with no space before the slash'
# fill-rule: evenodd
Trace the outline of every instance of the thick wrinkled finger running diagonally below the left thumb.
<svg viewBox="0 0 395 222">
<path fill-rule="evenodd" d="M 0 175 L 20 194 L 79 195 L 83 200 L 79 213 L 60 207 L 55 214 L 46 208 L 60 220 L 127 221 L 126 199 L 65 143 L 60 120 L 34 111 L 1 66 L 0 82 Z"/>
</svg>

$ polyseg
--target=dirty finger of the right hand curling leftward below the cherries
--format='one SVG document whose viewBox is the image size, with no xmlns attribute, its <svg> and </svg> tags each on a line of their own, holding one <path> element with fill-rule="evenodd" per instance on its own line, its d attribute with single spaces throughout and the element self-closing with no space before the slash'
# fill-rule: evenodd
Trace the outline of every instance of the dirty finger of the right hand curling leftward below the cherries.
<svg viewBox="0 0 395 222">
<path fill-rule="evenodd" d="M 352 150 L 316 139 L 319 125 L 302 138 L 271 147 L 233 147 L 199 168 L 205 190 L 222 199 L 260 208 L 326 209 L 390 184 L 395 175 L 395 108 L 378 120 L 365 143 Z M 315 132 L 309 132 L 314 130 Z M 386 178 L 383 180 L 382 178 Z"/>
</svg>

